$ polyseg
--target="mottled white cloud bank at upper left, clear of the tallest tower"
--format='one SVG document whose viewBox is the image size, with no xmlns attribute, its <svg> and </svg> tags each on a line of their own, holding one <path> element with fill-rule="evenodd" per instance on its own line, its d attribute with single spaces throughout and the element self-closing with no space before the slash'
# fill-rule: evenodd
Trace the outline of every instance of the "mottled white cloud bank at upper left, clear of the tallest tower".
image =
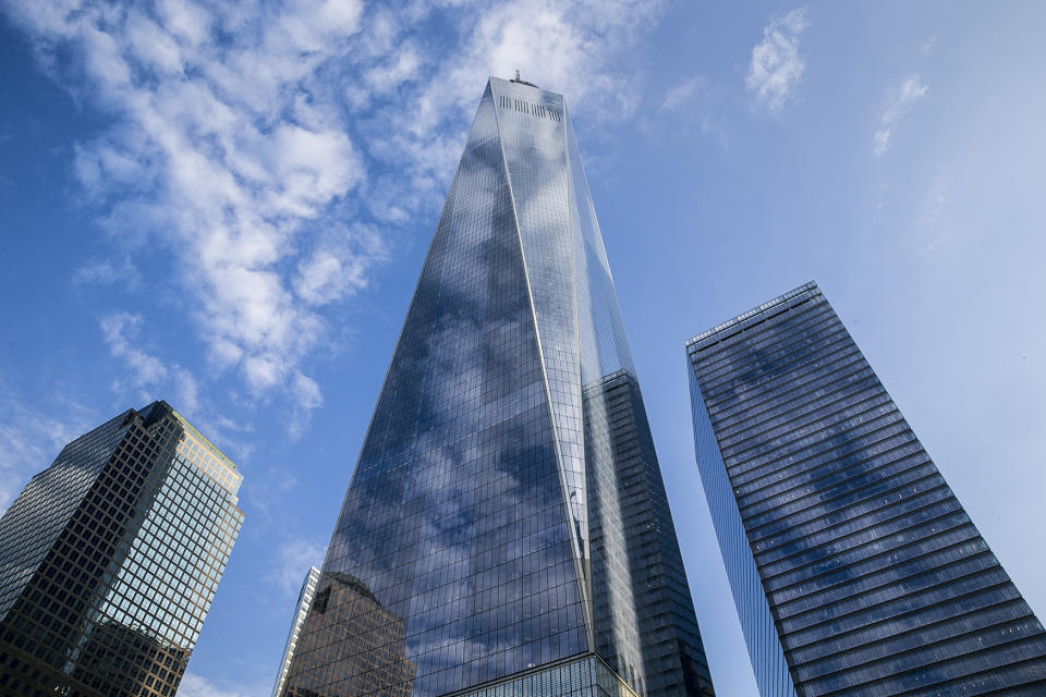
<svg viewBox="0 0 1046 697">
<path fill-rule="evenodd" d="M 102 210 L 111 204 L 105 224 L 177 255 L 211 359 L 239 368 L 255 392 L 291 379 L 323 332 L 281 269 L 297 256 L 303 227 L 353 189 L 365 167 L 337 105 L 293 106 L 320 89 L 318 72 L 345 50 L 361 9 L 315 0 L 271 13 L 252 3 L 163 2 L 155 14 L 87 2 L 11 8 L 49 61 L 63 49 L 82 57 L 65 80 L 81 72 L 71 88 L 115 117 L 76 156 L 88 195 Z M 357 274 L 368 266 L 341 260 Z M 95 262 L 77 278 L 111 282 L 120 271 Z M 134 382 L 157 383 L 159 359 L 118 340 L 138 323 L 112 316 L 104 329 Z"/>
</svg>

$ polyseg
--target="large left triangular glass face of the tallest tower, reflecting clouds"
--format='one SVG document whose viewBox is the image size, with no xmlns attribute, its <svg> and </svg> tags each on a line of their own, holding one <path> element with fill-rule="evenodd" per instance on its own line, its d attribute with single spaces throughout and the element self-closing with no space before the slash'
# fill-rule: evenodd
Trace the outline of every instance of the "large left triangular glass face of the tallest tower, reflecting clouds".
<svg viewBox="0 0 1046 697">
<path fill-rule="evenodd" d="M 577 533 L 495 110 L 488 85 L 289 697 L 364 694 L 390 680 L 388 694 L 441 695 L 588 651 Z"/>
</svg>

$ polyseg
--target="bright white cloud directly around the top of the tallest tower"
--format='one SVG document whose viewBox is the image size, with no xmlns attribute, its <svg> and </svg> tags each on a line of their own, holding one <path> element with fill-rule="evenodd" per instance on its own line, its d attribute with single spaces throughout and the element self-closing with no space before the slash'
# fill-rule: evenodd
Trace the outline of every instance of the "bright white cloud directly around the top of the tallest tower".
<svg viewBox="0 0 1046 697">
<path fill-rule="evenodd" d="M 489 75 L 520 70 L 524 80 L 565 95 L 574 114 L 594 122 L 631 115 L 638 105 L 637 77 L 618 61 L 660 16 L 661 3 L 515 0 L 455 12 L 457 45 L 429 56 L 434 68 L 416 88 L 377 110 L 384 120 L 369 144 L 372 154 L 405 169 L 398 175 L 415 193 L 449 181 Z M 441 196 L 442 186 L 437 188 Z"/>
</svg>

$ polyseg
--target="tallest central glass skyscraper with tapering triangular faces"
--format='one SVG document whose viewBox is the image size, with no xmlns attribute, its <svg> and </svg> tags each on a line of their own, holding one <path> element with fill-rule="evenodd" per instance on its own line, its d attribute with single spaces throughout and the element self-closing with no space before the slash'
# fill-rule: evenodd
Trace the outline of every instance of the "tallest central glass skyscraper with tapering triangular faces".
<svg viewBox="0 0 1046 697">
<path fill-rule="evenodd" d="M 288 697 L 713 694 L 559 95 L 487 84 L 323 571 Z"/>
</svg>

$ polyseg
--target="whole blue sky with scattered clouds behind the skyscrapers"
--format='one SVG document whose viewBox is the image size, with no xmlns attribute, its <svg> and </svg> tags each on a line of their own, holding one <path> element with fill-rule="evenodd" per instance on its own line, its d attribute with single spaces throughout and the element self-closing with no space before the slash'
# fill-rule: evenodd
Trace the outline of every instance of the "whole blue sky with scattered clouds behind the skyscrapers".
<svg viewBox="0 0 1046 697">
<path fill-rule="evenodd" d="M 245 476 L 180 695 L 265 695 L 489 74 L 565 95 L 719 694 L 683 342 L 815 279 L 1037 612 L 1046 5 L 9 0 L 0 506 L 167 399 Z"/>
</svg>

